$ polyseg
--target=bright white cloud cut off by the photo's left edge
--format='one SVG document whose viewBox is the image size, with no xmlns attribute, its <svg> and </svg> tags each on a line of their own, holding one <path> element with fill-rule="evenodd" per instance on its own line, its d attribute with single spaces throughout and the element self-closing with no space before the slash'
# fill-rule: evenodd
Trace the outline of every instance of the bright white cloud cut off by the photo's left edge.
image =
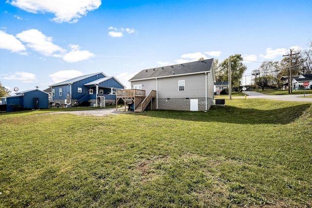
<svg viewBox="0 0 312 208">
<path fill-rule="evenodd" d="M 11 52 L 20 53 L 25 51 L 25 46 L 16 39 L 13 35 L 9 35 L 3 31 L 0 31 L 0 48 L 9 50 Z"/>
</svg>

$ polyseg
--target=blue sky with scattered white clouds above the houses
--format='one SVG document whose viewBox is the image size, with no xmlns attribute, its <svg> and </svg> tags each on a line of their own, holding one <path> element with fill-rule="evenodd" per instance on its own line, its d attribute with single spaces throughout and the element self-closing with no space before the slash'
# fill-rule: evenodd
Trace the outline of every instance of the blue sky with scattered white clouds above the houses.
<svg viewBox="0 0 312 208">
<path fill-rule="evenodd" d="M 312 40 L 311 0 L 2 0 L 0 82 L 48 88 L 96 72 L 241 54 L 251 71 Z"/>
</svg>

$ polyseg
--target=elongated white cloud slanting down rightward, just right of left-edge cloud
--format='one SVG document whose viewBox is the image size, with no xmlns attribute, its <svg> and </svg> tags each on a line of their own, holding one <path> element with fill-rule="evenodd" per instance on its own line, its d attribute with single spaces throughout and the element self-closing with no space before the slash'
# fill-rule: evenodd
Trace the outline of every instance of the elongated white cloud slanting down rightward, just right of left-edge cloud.
<svg viewBox="0 0 312 208">
<path fill-rule="evenodd" d="M 21 41 L 26 42 L 26 46 L 39 52 L 44 56 L 52 56 L 54 53 L 64 53 L 58 45 L 52 43 L 51 37 L 46 37 L 39 30 L 31 29 L 25 30 L 16 35 Z"/>
</svg>

